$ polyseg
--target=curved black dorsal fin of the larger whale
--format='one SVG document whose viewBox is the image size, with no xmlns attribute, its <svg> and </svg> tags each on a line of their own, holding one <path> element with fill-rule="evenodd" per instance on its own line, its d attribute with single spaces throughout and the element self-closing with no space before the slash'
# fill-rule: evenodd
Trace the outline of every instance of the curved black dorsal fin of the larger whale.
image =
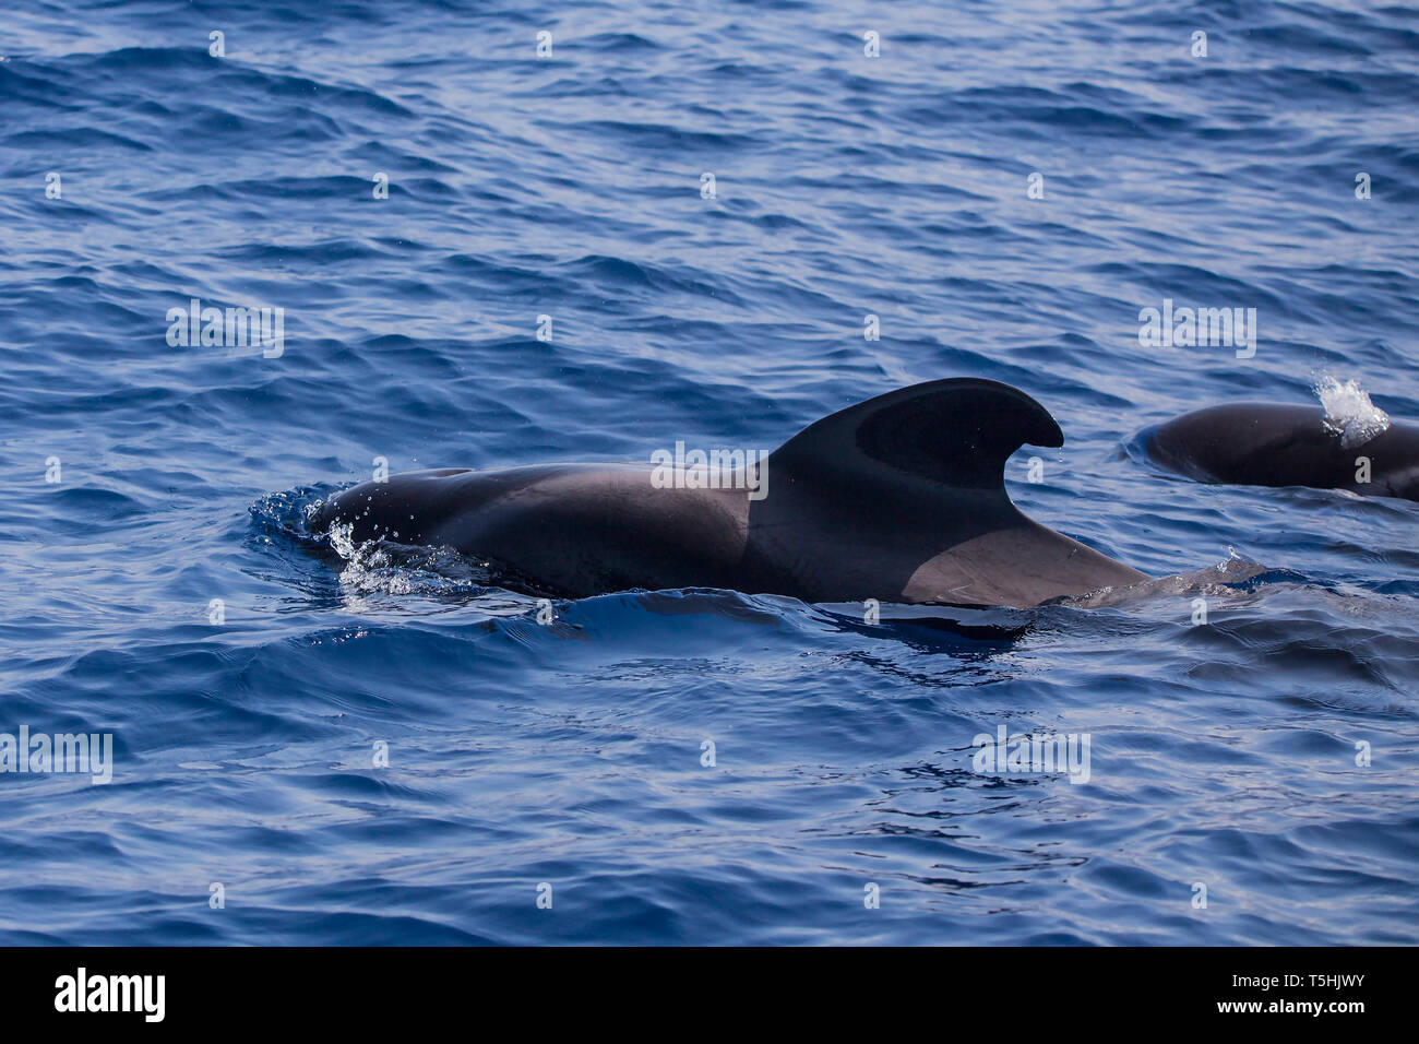
<svg viewBox="0 0 1419 1044">
<path fill-rule="evenodd" d="M 949 486 L 1003 490 L 1005 462 L 1026 443 L 1064 445 L 1044 406 L 999 381 L 949 378 L 816 420 L 779 446 L 769 467 L 846 477 L 871 462 Z"/>
</svg>

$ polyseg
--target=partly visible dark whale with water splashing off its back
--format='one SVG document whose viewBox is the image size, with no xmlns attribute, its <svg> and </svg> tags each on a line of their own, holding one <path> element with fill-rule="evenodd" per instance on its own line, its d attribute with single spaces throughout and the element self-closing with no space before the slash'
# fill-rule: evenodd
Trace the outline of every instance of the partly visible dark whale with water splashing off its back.
<svg viewBox="0 0 1419 1044">
<path fill-rule="evenodd" d="M 1419 428 L 1391 426 L 1345 447 L 1320 406 L 1235 402 L 1185 413 L 1144 433 L 1158 463 L 1203 482 L 1314 486 L 1419 500 Z M 1362 482 L 1366 476 L 1368 482 Z"/>
</svg>

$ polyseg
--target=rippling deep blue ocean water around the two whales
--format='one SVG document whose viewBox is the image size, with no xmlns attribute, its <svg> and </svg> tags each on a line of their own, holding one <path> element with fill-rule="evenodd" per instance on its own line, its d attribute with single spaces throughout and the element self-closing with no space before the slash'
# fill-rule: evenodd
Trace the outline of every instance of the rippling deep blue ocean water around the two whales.
<svg viewBox="0 0 1419 1044">
<path fill-rule="evenodd" d="M 1413 7 L 20 0 L 0 55 L 0 732 L 112 736 L 0 774 L 0 942 L 1419 940 L 1419 504 L 1134 437 L 1318 375 L 1419 419 Z M 192 298 L 281 341 L 170 344 Z M 1144 345 L 1165 300 L 1254 355 Z M 302 527 L 942 376 L 1060 420 L 1026 513 L 1181 580 L 539 624 Z M 1002 727 L 1087 781 L 973 771 Z"/>
</svg>

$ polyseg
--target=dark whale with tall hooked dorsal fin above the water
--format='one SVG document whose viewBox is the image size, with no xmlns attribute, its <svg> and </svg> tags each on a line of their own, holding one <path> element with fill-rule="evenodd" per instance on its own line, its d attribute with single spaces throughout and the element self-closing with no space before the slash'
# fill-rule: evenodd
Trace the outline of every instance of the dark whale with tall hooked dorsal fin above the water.
<svg viewBox="0 0 1419 1044">
<path fill-rule="evenodd" d="M 1064 445 L 1049 410 L 1006 384 L 948 378 L 816 420 L 715 482 L 666 463 L 407 472 L 314 504 L 308 527 L 451 547 L 499 585 L 553 598 L 725 588 L 1032 608 L 1147 580 L 1015 507 L 1005 464 L 1025 445 Z"/>
</svg>

